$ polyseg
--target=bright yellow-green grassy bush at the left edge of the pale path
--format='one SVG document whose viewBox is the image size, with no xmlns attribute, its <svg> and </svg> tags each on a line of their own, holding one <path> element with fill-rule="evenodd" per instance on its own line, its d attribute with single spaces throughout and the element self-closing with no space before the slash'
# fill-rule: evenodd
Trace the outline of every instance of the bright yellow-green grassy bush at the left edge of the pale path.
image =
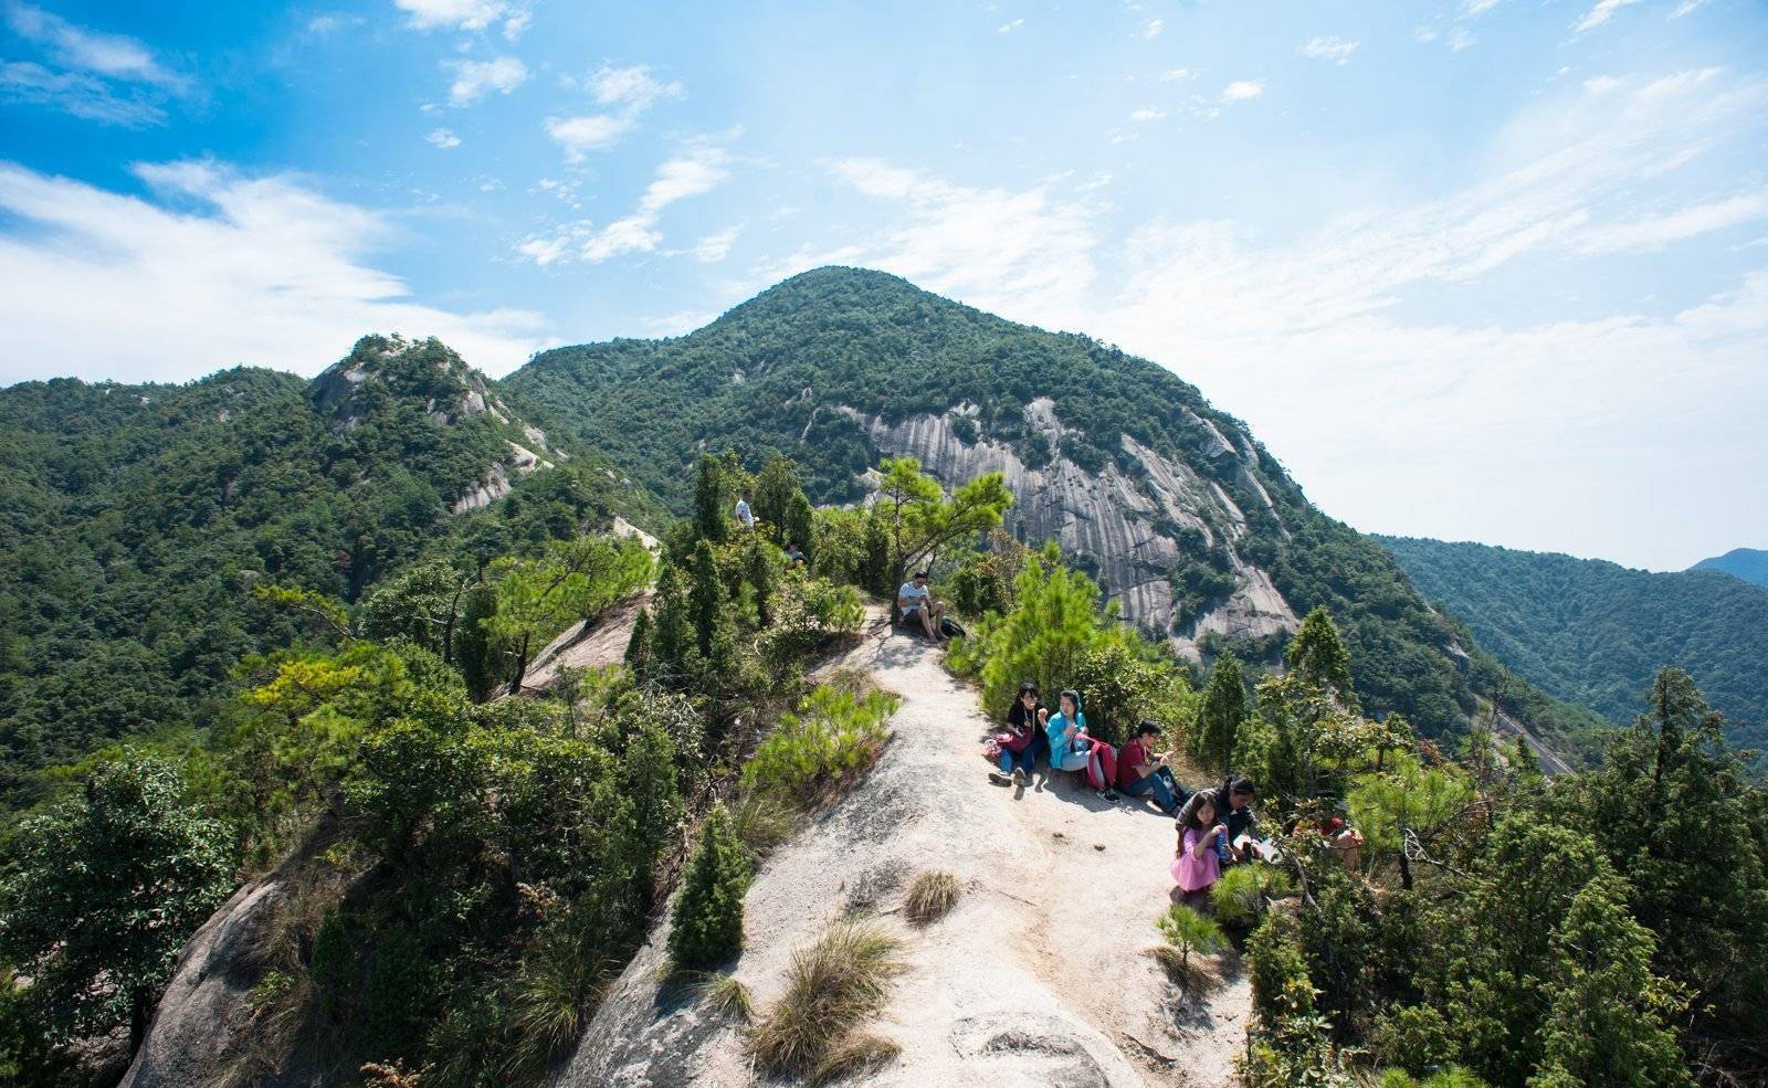
<svg viewBox="0 0 1768 1088">
<path fill-rule="evenodd" d="M 859 777 L 884 751 L 896 698 L 857 698 L 827 684 L 785 714 L 743 768 L 743 784 L 794 805 L 813 805 Z"/>
</svg>

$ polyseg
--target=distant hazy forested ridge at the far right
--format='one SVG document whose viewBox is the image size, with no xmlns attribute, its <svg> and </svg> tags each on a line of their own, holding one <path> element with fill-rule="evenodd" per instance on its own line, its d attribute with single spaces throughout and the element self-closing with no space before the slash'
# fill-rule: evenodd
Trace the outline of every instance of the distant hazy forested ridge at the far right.
<svg viewBox="0 0 1768 1088">
<path fill-rule="evenodd" d="M 1734 745 L 1768 745 L 1768 590 L 1718 570 L 1653 574 L 1485 544 L 1379 540 L 1482 646 L 1551 694 L 1630 722 L 1657 669 L 1674 664 L 1731 719 Z"/>
</svg>

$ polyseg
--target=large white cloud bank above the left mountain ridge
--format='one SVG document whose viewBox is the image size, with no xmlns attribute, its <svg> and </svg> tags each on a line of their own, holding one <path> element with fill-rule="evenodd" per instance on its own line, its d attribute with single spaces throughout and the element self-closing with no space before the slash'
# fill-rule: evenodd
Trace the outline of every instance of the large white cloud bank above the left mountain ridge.
<svg viewBox="0 0 1768 1088">
<path fill-rule="evenodd" d="M 529 311 L 415 302 L 368 263 L 392 233 L 378 212 L 216 162 L 134 170 L 180 210 L 0 164 L 0 210 L 21 224 L 0 228 L 0 383 L 41 376 L 46 359 L 124 382 L 240 362 L 311 374 L 364 332 L 440 336 L 504 373 L 550 343 Z"/>
</svg>

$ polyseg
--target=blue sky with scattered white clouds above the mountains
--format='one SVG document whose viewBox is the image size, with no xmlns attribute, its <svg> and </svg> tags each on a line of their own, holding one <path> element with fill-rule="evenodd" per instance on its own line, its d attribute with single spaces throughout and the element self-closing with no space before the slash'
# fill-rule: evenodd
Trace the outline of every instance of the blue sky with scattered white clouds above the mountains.
<svg viewBox="0 0 1768 1088">
<path fill-rule="evenodd" d="M 886 268 L 1370 532 L 1768 546 L 1768 7 L 0 0 L 0 383 L 488 373 Z"/>
</svg>

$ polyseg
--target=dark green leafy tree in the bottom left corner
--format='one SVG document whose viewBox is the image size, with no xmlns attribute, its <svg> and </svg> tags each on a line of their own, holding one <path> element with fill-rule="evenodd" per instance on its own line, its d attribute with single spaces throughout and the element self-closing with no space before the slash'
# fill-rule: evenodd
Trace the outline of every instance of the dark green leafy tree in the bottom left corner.
<svg viewBox="0 0 1768 1088">
<path fill-rule="evenodd" d="M 48 1039 L 140 1042 L 186 938 L 233 890 L 228 828 L 191 809 L 179 767 L 127 756 L 9 846 L 0 957 L 30 977 Z"/>
</svg>

